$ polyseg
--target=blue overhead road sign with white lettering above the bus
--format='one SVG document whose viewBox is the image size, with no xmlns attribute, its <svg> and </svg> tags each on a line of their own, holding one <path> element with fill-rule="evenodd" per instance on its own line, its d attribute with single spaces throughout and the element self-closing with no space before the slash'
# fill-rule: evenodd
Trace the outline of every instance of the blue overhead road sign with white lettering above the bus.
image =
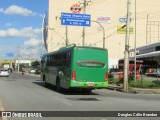
<svg viewBox="0 0 160 120">
<path fill-rule="evenodd" d="M 61 25 L 91 26 L 91 15 L 61 13 Z"/>
</svg>

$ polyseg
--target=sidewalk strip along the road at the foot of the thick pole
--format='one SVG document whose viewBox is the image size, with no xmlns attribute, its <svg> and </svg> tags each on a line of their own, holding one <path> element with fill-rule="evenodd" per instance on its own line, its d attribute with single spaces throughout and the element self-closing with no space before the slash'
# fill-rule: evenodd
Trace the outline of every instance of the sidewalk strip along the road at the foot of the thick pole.
<svg viewBox="0 0 160 120">
<path fill-rule="evenodd" d="M 109 84 L 108 89 L 115 91 L 123 91 L 123 86 L 117 86 L 116 84 Z M 132 88 L 129 93 L 144 93 L 144 94 L 160 94 L 160 89 L 149 88 Z"/>
</svg>

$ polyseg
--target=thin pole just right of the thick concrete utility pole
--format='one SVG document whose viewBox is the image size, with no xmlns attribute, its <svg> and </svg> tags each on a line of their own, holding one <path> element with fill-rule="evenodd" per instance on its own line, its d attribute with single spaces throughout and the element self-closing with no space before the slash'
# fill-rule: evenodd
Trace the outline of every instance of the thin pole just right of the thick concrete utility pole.
<svg viewBox="0 0 160 120">
<path fill-rule="evenodd" d="M 134 41 L 134 80 L 136 81 L 136 44 L 137 44 L 137 36 L 136 36 L 136 28 L 137 28 L 137 0 L 135 0 L 135 41 Z"/>
</svg>

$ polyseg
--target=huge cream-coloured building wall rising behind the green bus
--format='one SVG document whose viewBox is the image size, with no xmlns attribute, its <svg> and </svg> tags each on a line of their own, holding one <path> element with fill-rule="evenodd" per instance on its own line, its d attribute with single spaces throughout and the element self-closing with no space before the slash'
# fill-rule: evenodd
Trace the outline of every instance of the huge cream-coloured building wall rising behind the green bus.
<svg viewBox="0 0 160 120">
<path fill-rule="evenodd" d="M 61 25 L 61 13 L 72 13 L 78 8 L 83 14 L 84 0 L 49 0 L 48 12 L 48 51 L 55 51 L 65 46 L 66 34 L 70 44 L 82 45 L 83 27 Z M 124 57 L 125 18 L 127 0 L 86 0 L 86 14 L 91 15 L 91 26 L 85 27 L 85 45 L 103 47 L 103 29 L 105 29 L 105 48 L 109 51 L 109 59 Z M 158 42 L 160 40 L 160 1 L 131 0 L 131 34 L 129 45 L 134 48 L 135 13 L 137 47 Z M 135 12 L 136 7 L 136 12 Z M 72 9 L 71 9 L 72 8 Z M 75 9 L 77 8 L 77 9 Z M 77 11 L 76 11 L 77 12 Z M 95 22 L 96 21 L 96 22 Z M 67 32 L 66 32 L 67 30 Z"/>
</svg>

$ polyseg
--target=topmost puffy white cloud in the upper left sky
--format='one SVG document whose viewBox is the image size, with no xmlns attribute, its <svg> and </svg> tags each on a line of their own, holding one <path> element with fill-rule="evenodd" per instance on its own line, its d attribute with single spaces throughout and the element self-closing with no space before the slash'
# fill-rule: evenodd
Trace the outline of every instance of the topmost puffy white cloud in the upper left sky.
<svg viewBox="0 0 160 120">
<path fill-rule="evenodd" d="M 0 12 L 3 12 L 4 14 L 8 15 L 21 15 L 21 16 L 35 16 L 37 15 L 36 12 L 33 12 L 27 8 L 19 7 L 16 5 L 11 5 L 5 10 L 3 8 L 0 8 Z"/>
</svg>

